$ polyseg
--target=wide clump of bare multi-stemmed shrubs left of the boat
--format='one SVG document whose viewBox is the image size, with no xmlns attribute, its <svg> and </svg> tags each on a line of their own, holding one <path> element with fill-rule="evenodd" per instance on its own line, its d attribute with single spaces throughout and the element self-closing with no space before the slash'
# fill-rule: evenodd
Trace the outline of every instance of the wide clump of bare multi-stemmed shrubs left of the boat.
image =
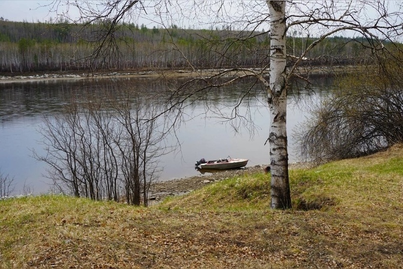
<svg viewBox="0 0 403 269">
<path fill-rule="evenodd" d="M 121 84 L 101 96 L 73 99 L 61 114 L 45 116 L 40 132 L 46 154 L 35 157 L 49 164 L 47 176 L 61 191 L 146 206 L 160 171 L 157 158 L 168 150 L 167 133 L 155 127 L 158 107 Z"/>
</svg>

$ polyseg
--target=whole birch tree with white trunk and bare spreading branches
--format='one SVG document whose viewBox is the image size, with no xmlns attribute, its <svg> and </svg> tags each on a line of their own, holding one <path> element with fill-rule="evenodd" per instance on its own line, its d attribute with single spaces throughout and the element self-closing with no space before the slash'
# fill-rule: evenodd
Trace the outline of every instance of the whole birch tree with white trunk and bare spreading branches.
<svg viewBox="0 0 403 269">
<path fill-rule="evenodd" d="M 402 33 L 402 11 L 400 2 L 382 1 L 219 1 L 219 2 L 141 2 L 141 1 L 107 1 L 106 13 L 96 13 L 92 9 L 90 14 L 97 19 L 109 19 L 107 38 L 109 39 L 118 25 L 123 21 L 124 14 L 135 14 L 143 17 L 152 14 L 150 20 L 159 23 L 162 28 L 168 29 L 168 25 L 176 24 L 176 21 L 192 20 L 197 25 L 205 25 L 209 29 L 221 28 L 220 34 L 212 34 L 210 39 L 205 37 L 209 44 L 209 58 L 215 58 L 214 72 L 206 74 L 197 70 L 188 60 L 188 55 L 174 42 L 173 38 L 166 38 L 171 43 L 170 51 L 179 52 L 180 60 L 186 63 L 192 70 L 193 77 L 187 82 L 172 90 L 166 113 L 176 113 L 180 117 L 184 100 L 193 97 L 203 98 L 208 96 L 208 91 L 219 88 L 222 85 L 236 83 L 240 79 L 251 79 L 251 84 L 259 83 L 265 90 L 267 106 L 269 109 L 267 124 L 269 160 L 271 166 L 271 208 L 290 208 L 290 187 L 288 180 L 288 153 L 286 133 L 286 97 L 290 89 L 294 90 L 293 81 L 303 82 L 304 87 L 309 87 L 309 77 L 314 69 L 326 67 L 330 62 L 345 63 L 346 58 L 336 58 L 328 54 L 311 55 L 315 46 L 323 42 L 327 37 L 345 35 L 345 42 L 356 42 L 363 50 L 369 50 L 371 57 L 362 59 L 374 63 L 376 53 L 379 50 L 387 51 L 388 47 L 398 41 Z M 135 4 L 134 4 L 135 3 Z M 149 3 L 151 9 L 146 10 L 145 3 Z M 137 8 L 134 8 L 137 6 Z M 141 8 L 138 8 L 140 6 Z M 79 6 L 77 6 L 80 8 Z M 234 8 L 234 9 L 233 9 Z M 91 10 L 90 8 L 86 9 Z M 235 10 L 235 11 L 233 11 Z M 113 18 L 108 18 L 112 15 Z M 178 17 L 182 15 L 182 17 Z M 185 19 L 183 19 L 185 18 Z M 198 20 L 197 20 L 198 19 Z M 209 24 L 206 24 L 209 23 Z M 268 31 L 260 28 L 269 28 Z M 301 39 L 300 54 L 292 47 L 292 54 L 286 52 L 287 32 L 298 33 Z M 264 53 L 265 57 L 250 68 L 241 67 L 236 47 L 248 42 L 253 44 L 254 38 L 265 35 L 267 37 L 267 50 L 259 50 L 256 53 Z M 173 30 L 171 31 L 173 36 Z M 294 37 L 294 36 L 293 36 Z M 334 49 L 342 50 L 345 42 L 338 44 Z M 113 42 L 112 42 L 113 43 Z M 387 43 L 387 45 L 386 45 Z M 102 42 L 100 42 L 102 44 Z M 219 45 L 224 44 L 224 45 Z M 235 49 L 234 49 L 235 48 Z M 102 50 L 105 51 L 105 50 Z M 250 51 L 257 51 L 251 49 Z M 212 55 L 212 56 L 211 56 Z M 342 55 L 340 53 L 339 55 Z M 268 74 L 268 77 L 267 77 Z M 250 100 L 252 86 L 245 89 L 239 95 L 239 102 Z M 207 107 L 206 109 L 213 109 Z M 216 111 L 219 115 L 220 111 Z M 238 107 L 233 106 L 233 113 L 227 117 L 237 122 L 248 122 L 251 117 L 239 114 Z M 243 119 L 243 120 L 242 120 Z M 237 123 L 236 123 L 237 124 Z M 235 124 L 235 127 L 237 127 Z"/>
</svg>

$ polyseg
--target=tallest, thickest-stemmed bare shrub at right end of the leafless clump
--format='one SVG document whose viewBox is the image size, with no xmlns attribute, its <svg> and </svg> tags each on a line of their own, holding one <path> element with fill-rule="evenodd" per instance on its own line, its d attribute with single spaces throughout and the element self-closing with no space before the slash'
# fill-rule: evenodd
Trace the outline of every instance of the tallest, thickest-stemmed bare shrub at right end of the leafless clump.
<svg viewBox="0 0 403 269">
<path fill-rule="evenodd" d="M 138 204 L 142 194 L 144 205 L 147 205 L 149 179 L 161 171 L 157 160 L 170 151 L 163 143 L 167 134 L 163 121 L 155 116 L 161 107 L 153 103 L 154 100 L 153 96 L 123 91 L 119 100 L 112 104 L 115 121 L 121 126 L 114 139 L 120 152 L 124 196 L 130 204 Z M 117 142 L 121 139 L 124 142 Z"/>
</svg>

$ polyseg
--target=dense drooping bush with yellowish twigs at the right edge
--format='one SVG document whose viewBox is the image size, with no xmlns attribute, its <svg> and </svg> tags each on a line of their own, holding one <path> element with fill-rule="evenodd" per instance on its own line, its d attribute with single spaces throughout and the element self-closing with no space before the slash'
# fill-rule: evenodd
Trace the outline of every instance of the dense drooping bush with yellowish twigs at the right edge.
<svg viewBox="0 0 403 269">
<path fill-rule="evenodd" d="M 328 161 L 370 154 L 403 141 L 403 77 L 399 58 L 379 61 L 339 80 L 312 110 L 296 138 L 301 154 Z"/>
</svg>

